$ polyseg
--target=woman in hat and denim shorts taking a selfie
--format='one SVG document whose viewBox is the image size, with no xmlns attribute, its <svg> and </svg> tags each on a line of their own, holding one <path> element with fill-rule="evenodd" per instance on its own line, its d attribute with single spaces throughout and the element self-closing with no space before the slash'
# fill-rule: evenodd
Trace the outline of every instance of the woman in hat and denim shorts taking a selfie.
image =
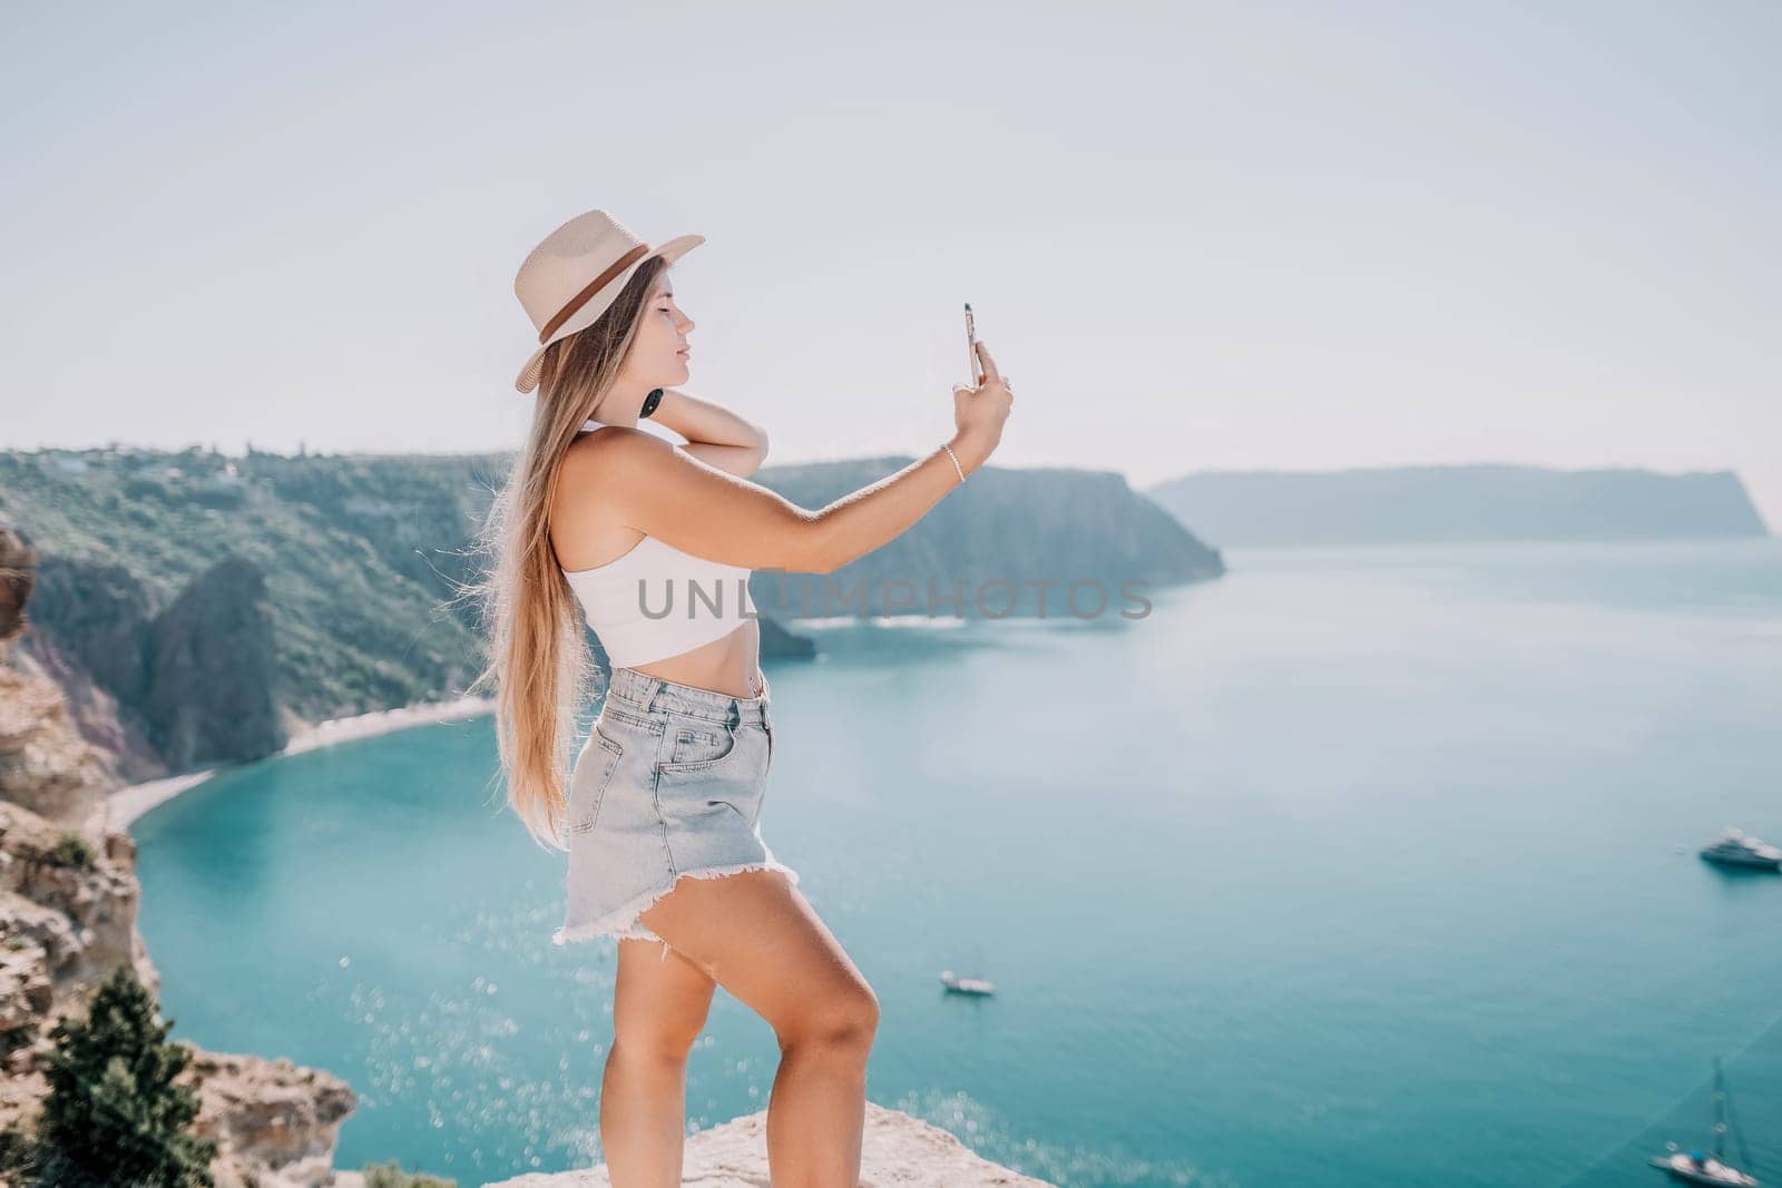
<svg viewBox="0 0 1782 1188">
<path fill-rule="evenodd" d="M 552 939 L 617 937 L 601 1083 L 613 1183 L 681 1183 L 686 1058 L 722 985 L 779 1037 L 773 1181 L 852 1188 L 879 999 L 761 839 L 773 721 L 747 577 L 829 574 L 895 540 L 984 465 L 1012 395 L 978 344 L 984 383 L 953 388 L 948 443 L 798 508 L 748 481 L 766 433 L 668 387 L 688 379 L 693 330 L 668 265 L 700 242 L 652 249 L 592 210 L 522 264 L 515 292 L 542 346 L 515 387 L 538 397 L 485 529 L 492 664 L 478 684 L 497 688 L 510 803 L 535 837 L 567 837 Z M 643 417 L 686 443 L 640 429 Z M 588 691 L 583 623 L 611 680 L 565 798 Z"/>
</svg>

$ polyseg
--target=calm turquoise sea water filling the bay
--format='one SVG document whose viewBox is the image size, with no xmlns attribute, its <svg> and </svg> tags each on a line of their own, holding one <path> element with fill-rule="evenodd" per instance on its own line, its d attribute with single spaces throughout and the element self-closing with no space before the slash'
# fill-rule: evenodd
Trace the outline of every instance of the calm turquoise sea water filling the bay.
<svg viewBox="0 0 1782 1188">
<path fill-rule="evenodd" d="M 1718 1053 L 1782 1176 L 1782 878 L 1695 857 L 1782 839 L 1782 541 L 1226 557 L 772 668 L 763 832 L 879 992 L 868 1095 L 1059 1184 L 1638 1184 Z M 137 823 L 175 1035 L 347 1079 L 342 1167 L 599 1158 L 611 942 L 551 944 L 492 762 L 422 727 Z M 690 1127 L 775 1056 L 720 990 Z"/>
</svg>

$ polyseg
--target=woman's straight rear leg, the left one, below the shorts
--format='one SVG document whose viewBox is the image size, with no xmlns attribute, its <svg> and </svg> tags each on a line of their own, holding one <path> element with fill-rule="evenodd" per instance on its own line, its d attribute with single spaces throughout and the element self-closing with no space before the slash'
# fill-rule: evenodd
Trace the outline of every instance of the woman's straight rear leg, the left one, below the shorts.
<svg viewBox="0 0 1782 1188">
<path fill-rule="evenodd" d="M 613 1188 L 679 1188 L 686 1056 L 716 983 L 658 940 L 618 942 L 613 1047 L 601 1078 L 601 1147 Z"/>
</svg>

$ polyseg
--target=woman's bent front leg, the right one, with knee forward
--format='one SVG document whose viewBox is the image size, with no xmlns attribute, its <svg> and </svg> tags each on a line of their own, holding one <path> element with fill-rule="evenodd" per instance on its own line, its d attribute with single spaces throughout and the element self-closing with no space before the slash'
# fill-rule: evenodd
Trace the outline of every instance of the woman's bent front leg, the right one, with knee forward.
<svg viewBox="0 0 1782 1188">
<path fill-rule="evenodd" d="M 804 892 L 779 871 L 683 878 L 642 919 L 779 1037 L 773 1188 L 857 1188 L 879 996 Z"/>
</svg>

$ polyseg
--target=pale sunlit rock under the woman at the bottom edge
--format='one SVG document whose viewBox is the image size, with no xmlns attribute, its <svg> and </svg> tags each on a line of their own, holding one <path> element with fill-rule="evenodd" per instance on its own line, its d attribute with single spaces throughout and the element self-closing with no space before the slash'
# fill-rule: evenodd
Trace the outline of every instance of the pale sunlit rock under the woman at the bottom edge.
<svg viewBox="0 0 1782 1188">
<path fill-rule="evenodd" d="M 731 1119 L 686 1140 L 681 1183 L 699 1188 L 761 1188 L 768 1183 L 768 1111 Z M 606 1165 L 584 1172 L 517 1176 L 488 1188 L 611 1188 Z M 900 1110 L 866 1103 L 861 1188 L 1051 1188 L 973 1152 L 952 1133 Z"/>
</svg>

